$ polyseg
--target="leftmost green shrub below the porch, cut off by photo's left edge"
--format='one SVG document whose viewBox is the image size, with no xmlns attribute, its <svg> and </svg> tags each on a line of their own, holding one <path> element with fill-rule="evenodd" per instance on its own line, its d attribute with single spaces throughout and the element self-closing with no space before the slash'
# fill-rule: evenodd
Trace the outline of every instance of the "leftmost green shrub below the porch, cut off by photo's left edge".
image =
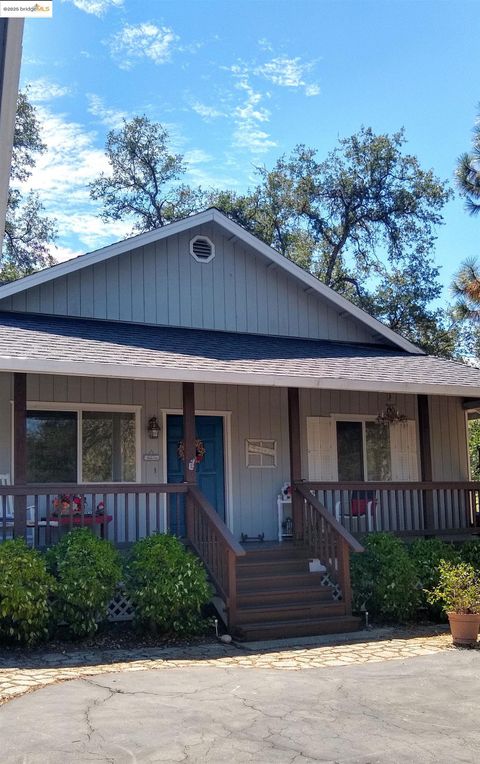
<svg viewBox="0 0 480 764">
<path fill-rule="evenodd" d="M 0 544 L 0 637 L 33 645 L 48 635 L 54 581 L 23 539 Z"/>
</svg>

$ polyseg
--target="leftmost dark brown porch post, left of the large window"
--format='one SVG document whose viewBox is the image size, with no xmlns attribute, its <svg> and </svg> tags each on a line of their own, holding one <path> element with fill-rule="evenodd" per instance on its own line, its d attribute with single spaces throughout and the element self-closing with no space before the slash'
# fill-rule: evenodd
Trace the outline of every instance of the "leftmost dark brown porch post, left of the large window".
<svg viewBox="0 0 480 764">
<path fill-rule="evenodd" d="M 13 375 L 13 467 L 15 485 L 27 482 L 27 375 Z M 27 530 L 27 496 L 15 496 L 13 530 L 15 538 Z"/>
</svg>

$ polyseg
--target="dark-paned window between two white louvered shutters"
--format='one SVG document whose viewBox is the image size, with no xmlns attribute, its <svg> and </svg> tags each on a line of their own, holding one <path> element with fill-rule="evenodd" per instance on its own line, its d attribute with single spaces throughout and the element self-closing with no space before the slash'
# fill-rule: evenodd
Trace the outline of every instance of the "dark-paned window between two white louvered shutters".
<svg viewBox="0 0 480 764">
<path fill-rule="evenodd" d="M 392 479 L 390 427 L 374 421 L 337 421 L 338 480 Z"/>
</svg>

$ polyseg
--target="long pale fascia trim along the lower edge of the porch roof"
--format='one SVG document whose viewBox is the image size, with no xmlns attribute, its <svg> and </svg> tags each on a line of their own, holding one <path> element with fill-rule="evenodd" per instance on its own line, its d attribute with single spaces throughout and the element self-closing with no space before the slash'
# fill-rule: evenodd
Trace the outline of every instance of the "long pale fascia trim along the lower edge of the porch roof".
<svg viewBox="0 0 480 764">
<path fill-rule="evenodd" d="M 408 359 L 406 359 L 408 361 Z M 78 366 L 78 369 L 75 368 Z M 165 366 L 126 366 L 113 363 L 83 361 L 54 361 L 36 358 L 0 358 L 0 372 L 23 371 L 32 374 L 59 374 L 62 376 L 103 377 L 156 382 L 202 382 L 217 385 L 250 385 L 257 387 L 300 387 L 313 390 L 350 390 L 375 393 L 406 393 L 426 395 L 454 395 L 478 397 L 480 382 L 474 385 L 427 384 L 415 381 L 362 380 L 348 377 L 312 377 L 287 374 L 256 374 L 251 371 L 209 371 L 193 368 L 167 368 Z"/>
</svg>

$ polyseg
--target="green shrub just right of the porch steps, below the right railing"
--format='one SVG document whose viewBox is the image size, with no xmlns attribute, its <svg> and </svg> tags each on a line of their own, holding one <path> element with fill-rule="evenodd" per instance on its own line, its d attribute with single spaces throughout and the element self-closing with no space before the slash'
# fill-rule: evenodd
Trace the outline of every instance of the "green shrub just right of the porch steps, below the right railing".
<svg viewBox="0 0 480 764">
<path fill-rule="evenodd" d="M 417 573 L 405 544 L 389 533 L 372 533 L 365 552 L 352 555 L 353 604 L 377 618 L 406 621 L 419 605 Z"/>
</svg>

